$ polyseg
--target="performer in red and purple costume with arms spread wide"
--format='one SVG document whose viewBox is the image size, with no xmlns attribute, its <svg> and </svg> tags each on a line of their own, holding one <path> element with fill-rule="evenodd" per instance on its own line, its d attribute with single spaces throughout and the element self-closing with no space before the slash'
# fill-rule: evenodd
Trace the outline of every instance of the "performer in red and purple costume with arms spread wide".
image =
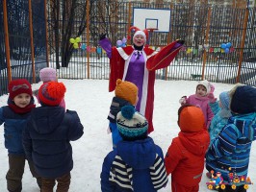
<svg viewBox="0 0 256 192">
<path fill-rule="evenodd" d="M 135 27 L 134 27 L 135 28 Z M 160 52 L 145 46 L 147 31 L 137 31 L 133 36 L 133 45 L 112 47 L 105 35 L 100 37 L 99 44 L 110 59 L 109 91 L 115 90 L 117 79 L 132 82 L 139 88 L 139 101 L 136 109 L 146 117 L 149 123 L 148 133 L 153 132 L 154 84 L 155 71 L 165 68 L 178 54 L 184 41 L 176 40 L 166 45 Z"/>
</svg>

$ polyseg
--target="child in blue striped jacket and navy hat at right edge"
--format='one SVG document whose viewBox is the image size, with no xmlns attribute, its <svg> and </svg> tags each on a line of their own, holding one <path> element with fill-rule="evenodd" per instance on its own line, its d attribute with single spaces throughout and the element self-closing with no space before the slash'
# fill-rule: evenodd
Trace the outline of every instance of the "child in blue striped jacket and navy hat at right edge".
<svg viewBox="0 0 256 192">
<path fill-rule="evenodd" d="M 237 85 L 229 96 L 232 116 L 213 140 L 206 156 L 206 169 L 220 172 L 224 182 L 230 181 L 230 174 L 246 178 L 251 143 L 256 139 L 256 88 Z M 243 183 L 238 185 L 241 186 L 236 190 L 227 185 L 223 191 L 246 191 Z"/>
</svg>

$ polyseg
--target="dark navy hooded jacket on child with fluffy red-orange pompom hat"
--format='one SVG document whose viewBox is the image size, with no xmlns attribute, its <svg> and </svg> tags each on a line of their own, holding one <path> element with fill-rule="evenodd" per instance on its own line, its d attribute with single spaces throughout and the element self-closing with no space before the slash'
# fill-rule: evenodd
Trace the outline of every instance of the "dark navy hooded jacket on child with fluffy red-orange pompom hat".
<svg viewBox="0 0 256 192">
<path fill-rule="evenodd" d="M 43 178 L 58 178 L 73 168 L 69 141 L 79 139 L 84 127 L 76 111 L 62 107 L 34 108 L 23 132 L 23 145 L 28 159 Z"/>
</svg>

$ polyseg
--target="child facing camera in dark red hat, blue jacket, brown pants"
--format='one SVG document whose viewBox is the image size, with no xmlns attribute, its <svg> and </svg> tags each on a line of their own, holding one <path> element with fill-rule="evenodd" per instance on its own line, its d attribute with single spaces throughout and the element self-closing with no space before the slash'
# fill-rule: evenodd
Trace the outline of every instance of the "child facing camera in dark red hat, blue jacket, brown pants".
<svg viewBox="0 0 256 192">
<path fill-rule="evenodd" d="M 8 106 L 0 108 L 0 125 L 4 123 L 5 147 L 8 149 L 9 170 L 6 175 L 7 189 L 9 192 L 22 190 L 22 176 L 24 173 L 26 156 L 22 146 L 22 132 L 35 108 L 31 84 L 24 79 L 13 80 L 8 85 Z M 37 178 L 40 187 L 40 178 L 35 172 L 34 165 L 28 159 L 30 171 Z"/>
</svg>

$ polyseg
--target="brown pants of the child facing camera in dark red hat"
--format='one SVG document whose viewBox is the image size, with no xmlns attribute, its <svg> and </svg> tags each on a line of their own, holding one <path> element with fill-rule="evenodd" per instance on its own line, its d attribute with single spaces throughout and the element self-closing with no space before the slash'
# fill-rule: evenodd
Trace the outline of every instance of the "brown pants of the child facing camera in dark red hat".
<svg viewBox="0 0 256 192">
<path fill-rule="evenodd" d="M 10 192 L 20 192 L 22 190 L 22 177 L 24 174 L 25 156 L 9 156 L 9 170 L 6 174 L 7 180 L 7 189 Z M 30 172 L 34 178 L 37 178 L 38 185 L 40 182 L 40 178 L 35 171 L 34 164 L 31 161 L 28 161 Z"/>
</svg>

